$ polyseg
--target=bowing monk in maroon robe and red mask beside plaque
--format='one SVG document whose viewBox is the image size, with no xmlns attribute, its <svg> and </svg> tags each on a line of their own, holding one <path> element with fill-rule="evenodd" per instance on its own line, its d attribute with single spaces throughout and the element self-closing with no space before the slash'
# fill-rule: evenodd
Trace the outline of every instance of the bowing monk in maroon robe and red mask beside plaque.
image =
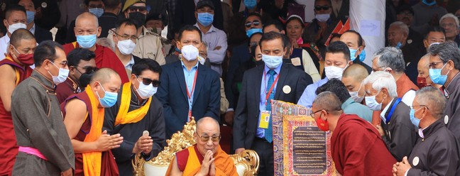
<svg viewBox="0 0 460 176">
<path fill-rule="evenodd" d="M 376 128 L 354 114 L 344 114 L 334 93 L 318 94 L 311 116 L 320 130 L 333 132 L 332 160 L 341 175 L 393 175 L 396 160 Z"/>
</svg>

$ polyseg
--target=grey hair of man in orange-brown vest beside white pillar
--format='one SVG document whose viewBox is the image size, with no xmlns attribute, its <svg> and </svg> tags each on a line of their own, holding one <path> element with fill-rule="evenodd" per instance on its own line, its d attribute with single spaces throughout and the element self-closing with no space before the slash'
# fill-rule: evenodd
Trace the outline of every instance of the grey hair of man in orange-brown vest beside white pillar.
<svg viewBox="0 0 460 176">
<path fill-rule="evenodd" d="M 397 73 L 405 71 L 403 52 L 398 48 L 380 48 L 374 53 L 372 61 L 376 59 L 378 67 L 390 67 L 393 72 Z"/>
</svg>

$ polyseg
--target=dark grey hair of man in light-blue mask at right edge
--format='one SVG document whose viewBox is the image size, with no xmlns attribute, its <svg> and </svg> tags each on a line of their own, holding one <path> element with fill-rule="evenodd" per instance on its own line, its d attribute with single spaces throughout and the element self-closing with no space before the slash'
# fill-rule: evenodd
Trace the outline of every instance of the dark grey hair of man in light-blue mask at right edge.
<svg viewBox="0 0 460 176">
<path fill-rule="evenodd" d="M 460 49 L 454 41 L 433 44 L 429 47 L 428 52 L 430 55 L 438 55 L 444 63 L 452 60 L 455 69 L 460 70 Z"/>
</svg>

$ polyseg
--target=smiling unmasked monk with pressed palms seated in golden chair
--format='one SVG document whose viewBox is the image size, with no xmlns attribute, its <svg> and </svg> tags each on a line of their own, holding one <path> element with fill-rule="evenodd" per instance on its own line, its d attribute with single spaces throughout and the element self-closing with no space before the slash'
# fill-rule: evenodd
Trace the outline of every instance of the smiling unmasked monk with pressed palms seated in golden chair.
<svg viewBox="0 0 460 176">
<path fill-rule="evenodd" d="M 197 144 L 175 154 L 166 175 L 238 175 L 234 161 L 220 148 L 219 122 L 211 117 L 197 121 Z"/>
</svg>

